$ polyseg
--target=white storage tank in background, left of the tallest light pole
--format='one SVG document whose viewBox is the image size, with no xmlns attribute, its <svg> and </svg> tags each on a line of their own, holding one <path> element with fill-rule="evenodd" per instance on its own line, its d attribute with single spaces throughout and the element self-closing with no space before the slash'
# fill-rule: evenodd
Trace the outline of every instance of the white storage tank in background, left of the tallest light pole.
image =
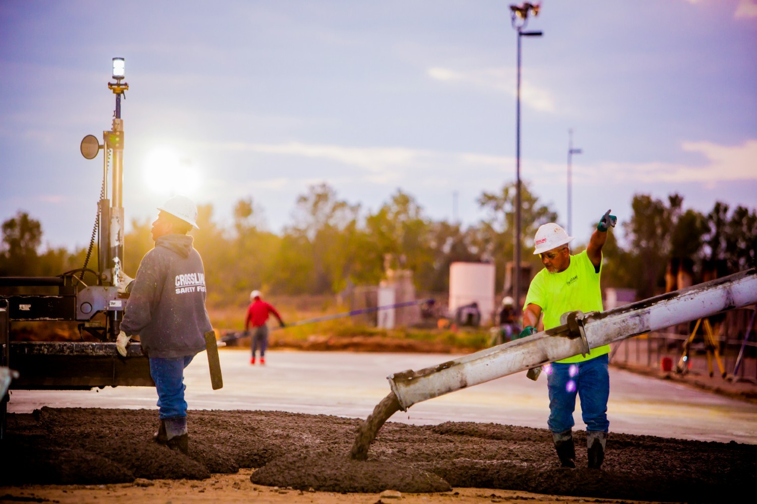
<svg viewBox="0 0 757 504">
<path fill-rule="evenodd" d="M 453 262 L 450 264 L 450 316 L 460 306 L 478 303 L 481 323 L 491 323 L 494 314 L 494 264 Z"/>
</svg>

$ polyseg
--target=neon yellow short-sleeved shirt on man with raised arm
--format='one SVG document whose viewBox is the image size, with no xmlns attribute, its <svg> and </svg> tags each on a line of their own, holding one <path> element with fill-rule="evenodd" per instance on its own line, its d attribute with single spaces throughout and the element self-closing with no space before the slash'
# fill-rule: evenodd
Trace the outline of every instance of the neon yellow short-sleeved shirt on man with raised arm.
<svg viewBox="0 0 757 504">
<path fill-rule="evenodd" d="M 565 271 L 550 273 L 546 268 L 539 271 L 525 296 L 525 306 L 533 303 L 544 313 L 544 329 L 560 325 L 560 316 L 569 311 L 603 311 L 600 271 L 596 271 L 586 251 L 570 256 L 570 264 Z M 525 309 L 525 307 L 524 307 Z M 575 363 L 590 360 L 609 353 L 610 345 L 592 348 L 586 357 L 581 354 L 558 360 L 561 363 Z"/>
</svg>

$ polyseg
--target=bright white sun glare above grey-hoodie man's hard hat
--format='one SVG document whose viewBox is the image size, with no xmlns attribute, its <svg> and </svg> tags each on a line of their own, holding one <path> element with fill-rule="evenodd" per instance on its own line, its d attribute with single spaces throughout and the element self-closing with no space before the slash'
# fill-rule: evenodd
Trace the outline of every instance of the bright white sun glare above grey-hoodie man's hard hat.
<svg viewBox="0 0 757 504">
<path fill-rule="evenodd" d="M 145 159 L 145 184 L 156 193 L 191 195 L 200 187 L 198 169 L 176 150 L 160 147 Z"/>
</svg>

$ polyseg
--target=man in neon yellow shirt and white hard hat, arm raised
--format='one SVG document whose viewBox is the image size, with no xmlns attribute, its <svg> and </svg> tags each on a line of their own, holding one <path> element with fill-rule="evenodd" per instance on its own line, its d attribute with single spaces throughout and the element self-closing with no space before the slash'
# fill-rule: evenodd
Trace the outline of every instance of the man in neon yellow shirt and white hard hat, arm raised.
<svg viewBox="0 0 757 504">
<path fill-rule="evenodd" d="M 544 224 L 534 237 L 534 254 L 544 270 L 531 280 L 523 309 L 526 324 L 519 336 L 531 335 L 544 314 L 544 329 L 561 324 L 560 317 L 571 311 L 602 311 L 602 247 L 607 230 L 615 227 L 615 215 L 608 210 L 600 219 L 584 252 L 571 255 L 573 237 L 557 224 Z M 545 366 L 550 393 L 550 418 L 547 425 L 563 467 L 575 467 L 572 428 L 576 394 L 581 398 L 581 413 L 586 424 L 589 468 L 599 469 L 605 456 L 609 422 L 609 345 L 591 348 L 588 354 L 575 355 Z"/>
</svg>

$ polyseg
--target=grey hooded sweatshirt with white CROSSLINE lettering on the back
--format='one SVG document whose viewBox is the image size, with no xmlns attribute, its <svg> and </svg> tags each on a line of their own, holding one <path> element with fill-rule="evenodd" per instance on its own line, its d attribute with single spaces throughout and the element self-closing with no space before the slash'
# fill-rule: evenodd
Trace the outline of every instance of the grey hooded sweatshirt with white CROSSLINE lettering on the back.
<svg viewBox="0 0 757 504">
<path fill-rule="evenodd" d="M 205 271 L 192 237 L 167 234 L 139 263 L 121 322 L 139 334 L 148 357 L 186 357 L 205 349 L 210 331 L 205 310 Z"/>
</svg>

